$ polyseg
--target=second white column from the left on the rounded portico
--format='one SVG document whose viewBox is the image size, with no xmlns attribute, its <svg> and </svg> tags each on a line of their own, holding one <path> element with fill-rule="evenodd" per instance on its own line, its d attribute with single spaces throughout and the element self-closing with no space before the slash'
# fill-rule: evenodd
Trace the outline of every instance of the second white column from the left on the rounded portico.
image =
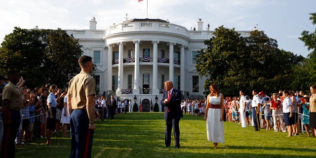
<svg viewBox="0 0 316 158">
<path fill-rule="evenodd" d="M 118 89 L 117 95 L 122 94 L 123 89 L 123 42 L 117 43 L 118 46 Z"/>
</svg>

